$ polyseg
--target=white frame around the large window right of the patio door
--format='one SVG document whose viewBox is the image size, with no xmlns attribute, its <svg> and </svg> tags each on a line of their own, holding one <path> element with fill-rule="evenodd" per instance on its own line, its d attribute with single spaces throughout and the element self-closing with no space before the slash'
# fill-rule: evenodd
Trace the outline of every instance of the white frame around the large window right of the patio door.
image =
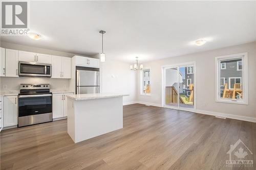
<svg viewBox="0 0 256 170">
<path fill-rule="evenodd" d="M 242 59 L 242 90 L 243 90 L 243 99 L 223 99 L 221 98 L 221 90 L 220 90 L 220 62 L 223 60 L 231 60 L 231 59 Z M 232 54 L 227 56 L 219 56 L 215 57 L 215 94 L 216 94 L 216 102 L 221 103 L 231 103 L 231 104 L 244 104 L 248 105 L 248 53 L 239 53 Z"/>
</svg>

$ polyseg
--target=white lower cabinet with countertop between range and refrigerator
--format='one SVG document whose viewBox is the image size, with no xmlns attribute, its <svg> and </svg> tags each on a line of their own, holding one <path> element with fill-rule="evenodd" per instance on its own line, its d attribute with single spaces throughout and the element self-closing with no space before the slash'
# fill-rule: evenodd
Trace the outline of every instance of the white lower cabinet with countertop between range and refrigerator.
<svg viewBox="0 0 256 170">
<path fill-rule="evenodd" d="M 52 96 L 52 112 L 53 118 L 67 116 L 67 94 L 73 93 L 57 93 Z"/>
</svg>

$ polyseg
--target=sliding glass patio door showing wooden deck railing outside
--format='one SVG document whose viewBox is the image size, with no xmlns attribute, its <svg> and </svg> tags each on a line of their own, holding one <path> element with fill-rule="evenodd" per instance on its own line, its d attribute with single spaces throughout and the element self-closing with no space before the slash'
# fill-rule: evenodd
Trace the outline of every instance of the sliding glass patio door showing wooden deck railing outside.
<svg viewBox="0 0 256 170">
<path fill-rule="evenodd" d="M 195 67 L 179 65 L 164 68 L 164 106 L 194 109 Z"/>
</svg>

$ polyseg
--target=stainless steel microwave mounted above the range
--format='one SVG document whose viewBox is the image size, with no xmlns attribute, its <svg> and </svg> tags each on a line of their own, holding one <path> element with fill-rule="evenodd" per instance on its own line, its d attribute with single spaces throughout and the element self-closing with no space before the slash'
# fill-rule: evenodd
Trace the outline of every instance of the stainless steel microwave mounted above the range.
<svg viewBox="0 0 256 170">
<path fill-rule="evenodd" d="M 51 77 L 52 65 L 35 62 L 19 62 L 19 76 Z"/>
</svg>

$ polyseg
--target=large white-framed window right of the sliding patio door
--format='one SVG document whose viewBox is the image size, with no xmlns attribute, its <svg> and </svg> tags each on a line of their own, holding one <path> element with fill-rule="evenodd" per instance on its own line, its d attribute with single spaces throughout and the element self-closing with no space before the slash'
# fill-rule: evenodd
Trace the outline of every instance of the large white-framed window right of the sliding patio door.
<svg viewBox="0 0 256 170">
<path fill-rule="evenodd" d="M 248 104 L 247 56 L 241 53 L 216 57 L 216 102 Z"/>
</svg>

